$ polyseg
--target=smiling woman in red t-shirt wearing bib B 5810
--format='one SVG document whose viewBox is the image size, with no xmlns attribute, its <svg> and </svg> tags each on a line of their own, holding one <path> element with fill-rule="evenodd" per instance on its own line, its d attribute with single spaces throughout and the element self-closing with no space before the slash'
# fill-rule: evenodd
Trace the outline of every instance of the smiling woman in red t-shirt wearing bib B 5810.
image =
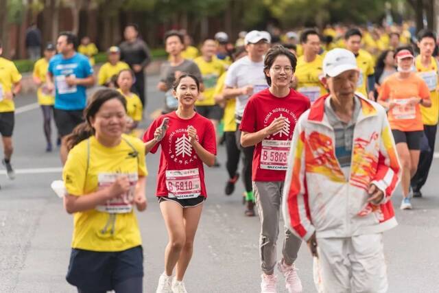
<svg viewBox="0 0 439 293">
<path fill-rule="evenodd" d="M 174 84 L 177 110 L 154 120 L 143 136 L 146 154 L 154 154 L 159 145 L 162 147 L 156 196 L 169 243 L 157 292 L 186 292 L 182 279 L 191 260 L 193 239 L 207 196 L 203 163 L 209 167 L 215 163 L 213 124 L 194 110 L 199 93 L 200 82 L 195 76 L 180 75 Z M 172 281 L 175 266 L 176 279 Z"/>
</svg>

